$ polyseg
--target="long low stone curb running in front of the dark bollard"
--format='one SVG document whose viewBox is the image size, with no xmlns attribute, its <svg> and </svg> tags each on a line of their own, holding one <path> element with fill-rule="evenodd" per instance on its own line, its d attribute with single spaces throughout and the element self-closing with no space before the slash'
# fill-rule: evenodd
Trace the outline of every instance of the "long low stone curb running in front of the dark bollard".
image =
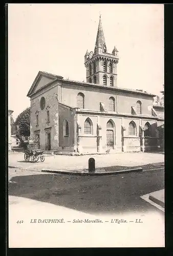
<svg viewBox="0 0 173 256">
<path fill-rule="evenodd" d="M 97 169 L 96 169 L 97 170 Z M 52 169 L 41 169 L 41 172 L 44 173 L 54 173 L 54 174 L 67 174 L 67 175 L 77 175 L 77 176 L 103 176 L 103 175 L 117 175 L 123 173 L 136 173 L 142 172 L 142 168 L 135 168 L 135 169 L 127 169 L 127 170 L 116 170 L 115 172 L 106 172 L 106 173 L 83 173 L 83 172 L 73 172 L 68 170 L 52 170 Z"/>
</svg>

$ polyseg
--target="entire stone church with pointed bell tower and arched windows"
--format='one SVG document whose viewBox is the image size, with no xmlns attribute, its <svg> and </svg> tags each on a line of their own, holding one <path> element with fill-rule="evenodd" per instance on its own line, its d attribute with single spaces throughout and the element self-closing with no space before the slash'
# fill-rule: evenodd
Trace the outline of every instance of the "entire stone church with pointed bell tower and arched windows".
<svg viewBox="0 0 173 256">
<path fill-rule="evenodd" d="M 164 107 L 156 95 L 117 87 L 118 50 L 107 53 L 99 20 L 94 52 L 86 52 L 87 82 L 39 71 L 27 96 L 31 135 L 45 151 L 104 154 L 157 150 Z"/>
</svg>

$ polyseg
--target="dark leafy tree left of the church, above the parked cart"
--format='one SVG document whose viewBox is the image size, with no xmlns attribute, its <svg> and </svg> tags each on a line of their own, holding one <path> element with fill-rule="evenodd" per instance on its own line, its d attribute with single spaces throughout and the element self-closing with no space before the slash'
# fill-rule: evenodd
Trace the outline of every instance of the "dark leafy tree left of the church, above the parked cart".
<svg viewBox="0 0 173 256">
<path fill-rule="evenodd" d="M 17 125 L 17 136 L 19 138 L 21 136 L 30 136 L 30 108 L 27 108 L 17 116 L 15 124 Z"/>
</svg>

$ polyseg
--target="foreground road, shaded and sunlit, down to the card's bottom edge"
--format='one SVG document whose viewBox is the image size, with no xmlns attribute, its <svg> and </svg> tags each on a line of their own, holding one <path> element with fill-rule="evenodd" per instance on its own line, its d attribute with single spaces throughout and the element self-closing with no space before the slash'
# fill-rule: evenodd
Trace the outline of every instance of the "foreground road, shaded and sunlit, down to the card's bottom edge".
<svg viewBox="0 0 173 256">
<path fill-rule="evenodd" d="M 23 174 L 9 183 L 9 247 L 164 247 L 164 213 L 140 198 L 164 187 L 163 169 L 97 177 Z M 62 224 L 38 223 L 61 218 Z"/>
</svg>

